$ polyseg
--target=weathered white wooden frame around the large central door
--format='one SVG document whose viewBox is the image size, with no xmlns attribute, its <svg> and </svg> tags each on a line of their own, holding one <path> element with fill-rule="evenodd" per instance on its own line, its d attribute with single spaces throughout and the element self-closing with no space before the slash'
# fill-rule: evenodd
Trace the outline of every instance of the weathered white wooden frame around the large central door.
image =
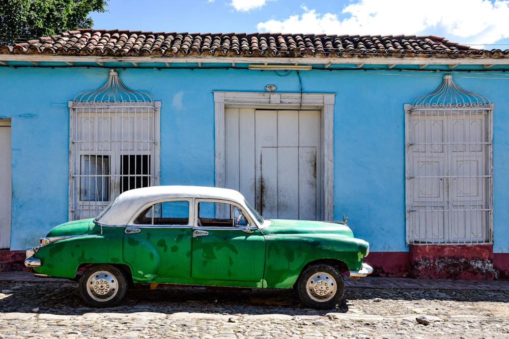
<svg viewBox="0 0 509 339">
<path fill-rule="evenodd" d="M 334 220 L 334 101 L 330 93 L 265 93 L 214 91 L 215 186 L 225 187 L 226 135 L 224 108 L 315 109 L 322 121 L 323 220 Z"/>
</svg>

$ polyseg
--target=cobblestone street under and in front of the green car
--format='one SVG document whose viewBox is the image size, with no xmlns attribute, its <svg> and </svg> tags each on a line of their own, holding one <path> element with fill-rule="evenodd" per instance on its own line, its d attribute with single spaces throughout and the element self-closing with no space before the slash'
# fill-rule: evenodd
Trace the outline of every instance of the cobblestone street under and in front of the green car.
<svg viewBox="0 0 509 339">
<path fill-rule="evenodd" d="M 293 290 L 136 285 L 119 306 L 95 309 L 76 283 L 18 276 L 0 274 L 0 338 L 509 338 L 509 282 L 347 279 L 327 311 Z"/>
</svg>

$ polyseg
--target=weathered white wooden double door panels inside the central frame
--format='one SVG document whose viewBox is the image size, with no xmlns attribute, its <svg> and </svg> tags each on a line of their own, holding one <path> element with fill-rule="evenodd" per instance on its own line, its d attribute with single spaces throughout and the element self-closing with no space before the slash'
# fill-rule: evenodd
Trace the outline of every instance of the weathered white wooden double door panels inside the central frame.
<svg viewBox="0 0 509 339">
<path fill-rule="evenodd" d="M 267 219 L 319 220 L 320 111 L 226 109 L 226 183 Z"/>
</svg>

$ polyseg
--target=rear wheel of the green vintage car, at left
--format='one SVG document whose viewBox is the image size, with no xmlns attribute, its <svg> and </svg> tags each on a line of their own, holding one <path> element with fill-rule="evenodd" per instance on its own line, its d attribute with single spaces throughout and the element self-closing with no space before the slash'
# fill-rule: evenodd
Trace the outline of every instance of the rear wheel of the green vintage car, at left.
<svg viewBox="0 0 509 339">
<path fill-rule="evenodd" d="M 115 266 L 93 265 L 81 275 L 79 291 L 92 306 L 115 306 L 126 295 L 127 282 L 124 273 Z"/>
</svg>

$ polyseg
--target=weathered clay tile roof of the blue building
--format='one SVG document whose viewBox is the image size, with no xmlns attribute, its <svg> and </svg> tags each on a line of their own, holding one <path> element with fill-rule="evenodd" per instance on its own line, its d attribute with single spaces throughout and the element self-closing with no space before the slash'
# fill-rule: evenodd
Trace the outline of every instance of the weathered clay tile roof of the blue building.
<svg viewBox="0 0 509 339">
<path fill-rule="evenodd" d="M 281 33 L 163 33 L 79 29 L 14 46 L 0 54 L 107 56 L 280 57 L 507 57 L 509 50 L 479 50 L 436 36 L 358 36 Z"/>
</svg>

